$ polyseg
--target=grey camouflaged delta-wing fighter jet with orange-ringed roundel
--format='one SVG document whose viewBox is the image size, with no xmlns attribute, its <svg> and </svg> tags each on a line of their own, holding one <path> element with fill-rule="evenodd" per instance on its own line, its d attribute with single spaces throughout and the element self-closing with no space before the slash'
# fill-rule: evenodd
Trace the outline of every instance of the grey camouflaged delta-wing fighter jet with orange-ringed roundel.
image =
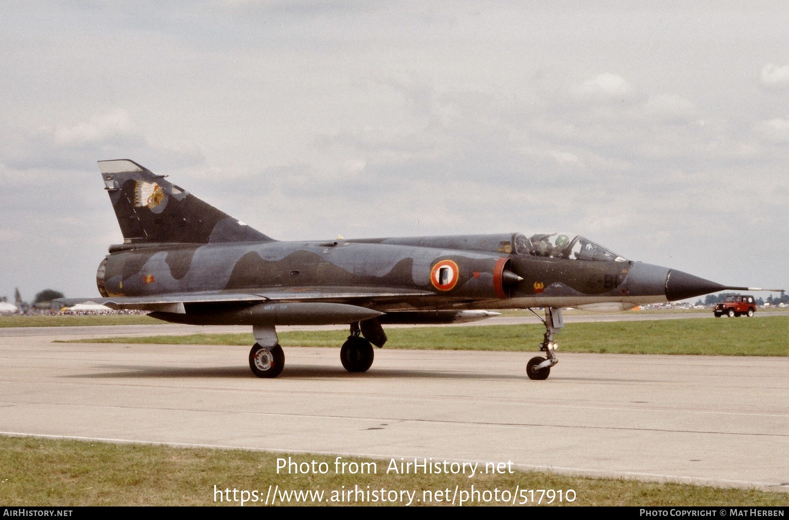
<svg viewBox="0 0 789 520">
<path fill-rule="evenodd" d="M 349 324 L 340 360 L 365 372 L 372 345 L 387 341 L 385 324 L 529 309 L 545 325 L 545 357 L 529 360 L 526 374 L 544 380 L 558 362 L 563 307 L 624 310 L 748 289 L 626 260 L 568 233 L 277 241 L 128 159 L 99 161 L 99 170 L 123 243 L 110 245 L 96 273 L 103 297 L 89 301 L 179 324 L 252 326 L 249 367 L 259 377 L 285 365 L 277 325 Z"/>
</svg>

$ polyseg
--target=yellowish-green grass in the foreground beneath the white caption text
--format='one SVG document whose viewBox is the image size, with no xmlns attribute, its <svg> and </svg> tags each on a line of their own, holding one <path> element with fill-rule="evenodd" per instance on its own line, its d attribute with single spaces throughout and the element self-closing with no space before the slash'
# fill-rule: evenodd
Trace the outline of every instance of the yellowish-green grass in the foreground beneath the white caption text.
<svg viewBox="0 0 789 520">
<path fill-rule="evenodd" d="M 277 473 L 277 458 L 326 462 L 324 475 Z M 552 489 L 575 492 L 574 506 L 786 506 L 789 495 L 756 489 L 712 488 L 678 483 L 567 477 L 522 472 L 452 475 L 386 474 L 388 459 L 343 457 L 346 462 L 376 462 L 375 474 L 335 474 L 335 456 L 261 451 L 211 450 L 140 444 L 111 444 L 34 437 L 0 437 L 0 503 L 4 506 L 204 506 L 240 505 L 219 502 L 220 492 L 235 488 L 258 491 L 262 501 L 269 485 L 279 489 L 322 490 L 327 498 L 342 489 L 423 491 L 455 486 L 460 490 L 514 492 Z M 399 459 L 398 459 L 399 461 Z M 343 488 L 342 486 L 345 486 Z M 369 488 L 368 488 L 369 486 Z M 521 494 L 518 493 L 520 497 Z M 224 495 L 222 498 L 225 498 Z M 544 499 L 545 500 L 545 499 Z M 297 505 L 277 501 L 282 505 Z M 347 505 L 341 502 L 338 505 Z M 416 502 L 415 502 L 416 503 Z M 432 503 L 439 504 L 436 500 Z M 305 505 L 333 505 L 307 502 Z M 422 503 L 424 504 L 424 502 Z M 254 505 L 248 503 L 247 505 Z M 260 505 L 260 504 L 259 504 Z M 379 503 L 380 505 L 380 503 Z M 490 503 L 489 505 L 493 505 Z M 559 505 L 555 501 L 553 505 Z"/>
</svg>

